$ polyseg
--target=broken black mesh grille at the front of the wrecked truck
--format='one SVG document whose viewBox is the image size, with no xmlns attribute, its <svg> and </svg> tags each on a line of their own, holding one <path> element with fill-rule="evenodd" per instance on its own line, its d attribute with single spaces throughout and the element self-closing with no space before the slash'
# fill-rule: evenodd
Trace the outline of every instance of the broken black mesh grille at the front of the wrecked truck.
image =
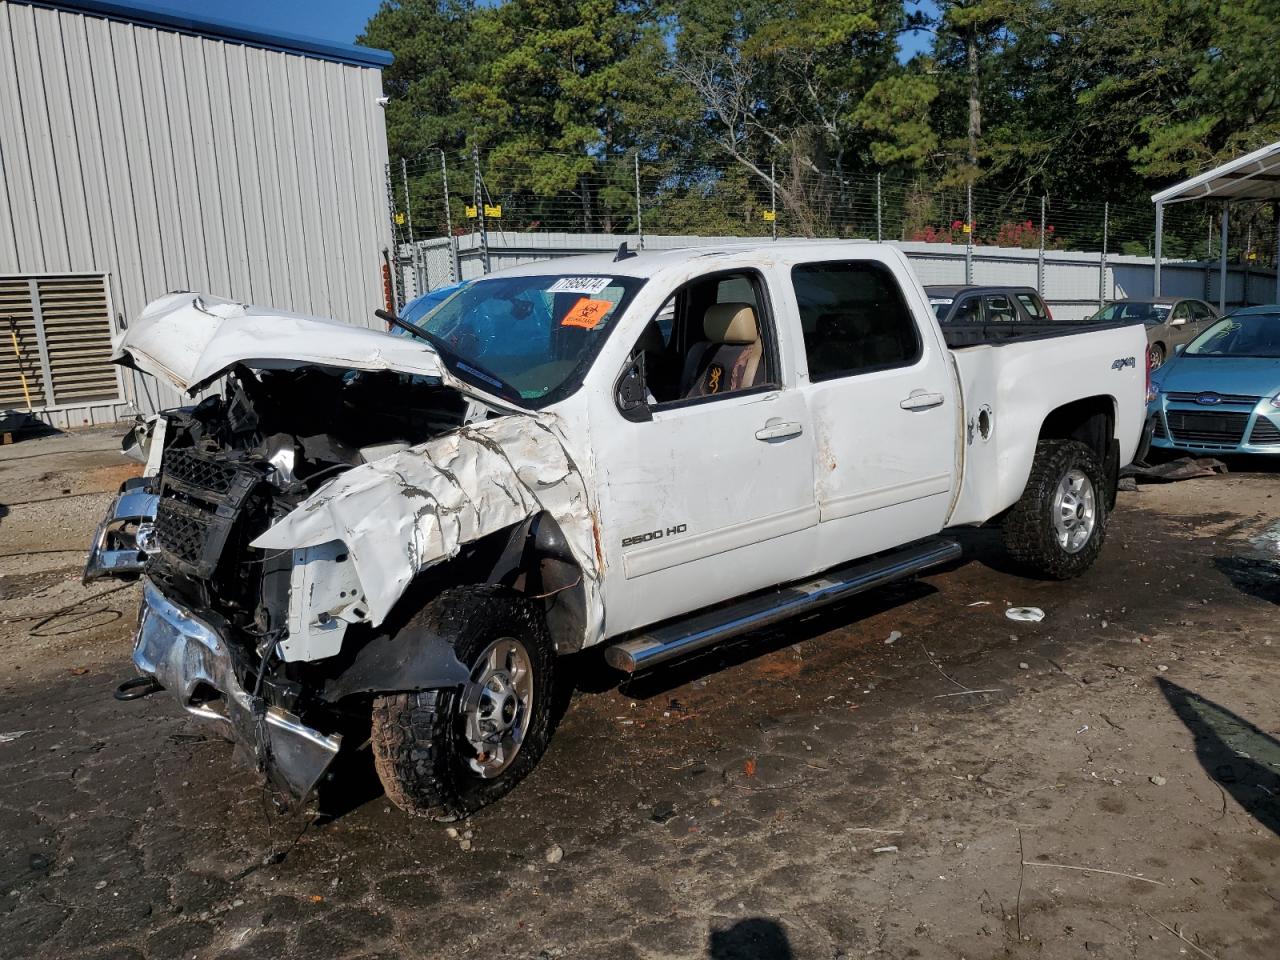
<svg viewBox="0 0 1280 960">
<path fill-rule="evenodd" d="M 262 474 L 252 463 L 170 448 L 160 481 L 155 525 L 160 556 L 175 570 L 207 580 Z"/>
</svg>

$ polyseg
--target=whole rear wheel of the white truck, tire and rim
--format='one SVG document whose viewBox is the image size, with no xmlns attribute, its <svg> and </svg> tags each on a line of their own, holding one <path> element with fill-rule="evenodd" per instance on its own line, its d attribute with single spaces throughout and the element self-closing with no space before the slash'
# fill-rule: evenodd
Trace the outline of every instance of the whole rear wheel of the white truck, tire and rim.
<svg viewBox="0 0 1280 960">
<path fill-rule="evenodd" d="M 1068 580 L 1093 566 L 1107 529 L 1106 475 L 1092 447 L 1041 440 L 1021 499 L 1005 517 L 1005 547 L 1037 573 Z"/>
</svg>

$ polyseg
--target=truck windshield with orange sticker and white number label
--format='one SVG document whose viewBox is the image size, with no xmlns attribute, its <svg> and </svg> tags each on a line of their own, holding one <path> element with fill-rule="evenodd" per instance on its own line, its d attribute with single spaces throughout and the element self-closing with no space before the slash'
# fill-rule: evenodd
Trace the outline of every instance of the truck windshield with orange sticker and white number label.
<svg viewBox="0 0 1280 960">
<path fill-rule="evenodd" d="M 493 276 L 415 325 L 456 375 L 536 406 L 576 385 L 641 285 L 634 276 Z"/>
</svg>

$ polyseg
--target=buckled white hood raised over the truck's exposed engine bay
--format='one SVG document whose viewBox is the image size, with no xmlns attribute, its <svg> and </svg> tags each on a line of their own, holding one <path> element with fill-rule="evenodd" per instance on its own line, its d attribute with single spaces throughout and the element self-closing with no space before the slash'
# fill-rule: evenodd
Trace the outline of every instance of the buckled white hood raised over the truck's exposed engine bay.
<svg viewBox="0 0 1280 960">
<path fill-rule="evenodd" d="M 116 340 L 111 360 L 191 393 L 237 364 L 393 370 L 475 393 L 449 376 L 422 340 L 205 293 L 170 293 L 148 303 Z"/>
</svg>

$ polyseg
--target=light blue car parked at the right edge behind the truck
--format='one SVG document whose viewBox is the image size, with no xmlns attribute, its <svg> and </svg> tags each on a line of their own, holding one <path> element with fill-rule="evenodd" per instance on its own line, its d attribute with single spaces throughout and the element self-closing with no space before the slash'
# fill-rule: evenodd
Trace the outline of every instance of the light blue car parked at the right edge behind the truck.
<svg viewBox="0 0 1280 960">
<path fill-rule="evenodd" d="M 1280 454 L 1280 305 L 1216 321 L 1151 375 L 1152 447 Z"/>
</svg>

